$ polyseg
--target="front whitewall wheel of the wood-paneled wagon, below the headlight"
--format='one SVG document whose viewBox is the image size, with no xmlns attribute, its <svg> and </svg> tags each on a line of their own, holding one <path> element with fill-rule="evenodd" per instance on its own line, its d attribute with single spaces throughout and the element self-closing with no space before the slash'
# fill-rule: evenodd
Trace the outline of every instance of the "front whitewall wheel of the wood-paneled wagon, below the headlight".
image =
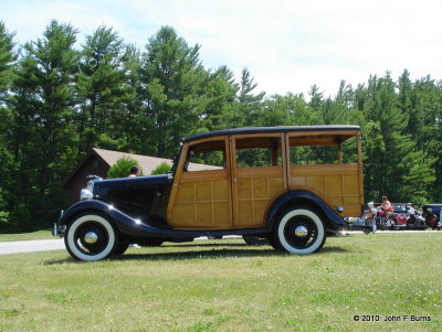
<svg viewBox="0 0 442 332">
<path fill-rule="evenodd" d="M 69 224 L 64 243 L 73 258 L 99 260 L 118 249 L 118 234 L 105 216 L 84 214 Z"/>
</svg>

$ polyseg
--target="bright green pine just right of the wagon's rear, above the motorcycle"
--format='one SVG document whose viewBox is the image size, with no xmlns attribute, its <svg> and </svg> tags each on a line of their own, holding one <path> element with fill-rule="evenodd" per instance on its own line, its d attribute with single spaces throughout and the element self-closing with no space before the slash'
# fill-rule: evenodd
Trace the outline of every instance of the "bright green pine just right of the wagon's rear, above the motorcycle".
<svg viewBox="0 0 442 332">
<path fill-rule="evenodd" d="M 403 82 L 403 81 L 402 81 Z M 387 195 L 391 201 L 424 202 L 433 181 L 434 159 L 427 158 L 408 130 L 409 110 L 396 93 L 389 73 L 370 77 L 364 126 L 366 196 Z M 375 128 L 377 130 L 375 130 Z M 424 178 L 421 178 L 424 176 Z M 376 197 L 377 196 L 377 197 Z"/>
</svg>

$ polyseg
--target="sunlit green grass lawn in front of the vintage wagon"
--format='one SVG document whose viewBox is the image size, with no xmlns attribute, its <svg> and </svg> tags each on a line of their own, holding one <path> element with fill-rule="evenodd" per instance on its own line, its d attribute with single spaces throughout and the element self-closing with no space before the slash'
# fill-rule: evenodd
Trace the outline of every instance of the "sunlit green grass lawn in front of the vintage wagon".
<svg viewBox="0 0 442 332">
<path fill-rule="evenodd" d="M 441 253 L 442 233 L 394 233 L 309 256 L 241 239 L 0 256 L 0 331 L 441 331 Z"/>
</svg>

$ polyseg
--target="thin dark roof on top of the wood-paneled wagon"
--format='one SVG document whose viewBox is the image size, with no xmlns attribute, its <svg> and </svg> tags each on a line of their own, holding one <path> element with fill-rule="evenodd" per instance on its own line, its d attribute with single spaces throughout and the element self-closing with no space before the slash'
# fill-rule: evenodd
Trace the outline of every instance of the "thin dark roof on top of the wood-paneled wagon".
<svg viewBox="0 0 442 332">
<path fill-rule="evenodd" d="M 274 132 L 296 132 L 296 131 L 339 131 L 345 130 L 360 130 L 359 126 L 352 125 L 323 125 L 323 126 L 278 126 L 278 127 L 244 127 L 244 128 L 231 128 L 222 129 L 210 132 L 203 132 L 185 138 L 182 142 L 190 142 L 194 140 L 212 138 L 217 136 L 225 135 L 253 135 L 253 133 L 274 133 Z"/>
</svg>

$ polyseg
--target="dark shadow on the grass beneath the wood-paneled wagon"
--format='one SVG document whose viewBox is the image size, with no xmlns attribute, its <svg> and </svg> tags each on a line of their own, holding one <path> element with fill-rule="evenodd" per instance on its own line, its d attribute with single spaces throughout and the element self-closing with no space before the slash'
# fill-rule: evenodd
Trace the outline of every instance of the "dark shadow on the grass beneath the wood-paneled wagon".
<svg viewBox="0 0 442 332">
<path fill-rule="evenodd" d="M 187 248 L 189 250 L 181 250 Z M 198 248 L 194 250 L 194 248 Z M 204 249 L 207 248 L 207 249 Z M 210 249 L 211 248 L 211 249 Z M 160 250 L 157 247 L 156 250 Z M 168 253 L 130 253 L 124 255 L 116 255 L 108 260 L 110 261 L 125 261 L 125 260 L 190 260 L 190 259 L 222 259 L 222 258 L 248 258 L 248 257 L 285 257 L 294 256 L 288 253 L 275 250 L 270 246 L 249 246 L 246 244 L 182 244 L 164 246 Z M 177 249 L 177 250 L 173 250 Z M 173 250 L 173 251 L 170 251 Z M 348 253 L 347 249 L 341 247 L 324 247 L 314 256 L 329 255 L 334 253 Z M 296 255 L 295 255 L 296 256 Z M 73 258 L 56 259 L 45 261 L 44 265 L 57 265 L 66 263 L 87 264 L 86 261 L 78 261 Z"/>
</svg>

